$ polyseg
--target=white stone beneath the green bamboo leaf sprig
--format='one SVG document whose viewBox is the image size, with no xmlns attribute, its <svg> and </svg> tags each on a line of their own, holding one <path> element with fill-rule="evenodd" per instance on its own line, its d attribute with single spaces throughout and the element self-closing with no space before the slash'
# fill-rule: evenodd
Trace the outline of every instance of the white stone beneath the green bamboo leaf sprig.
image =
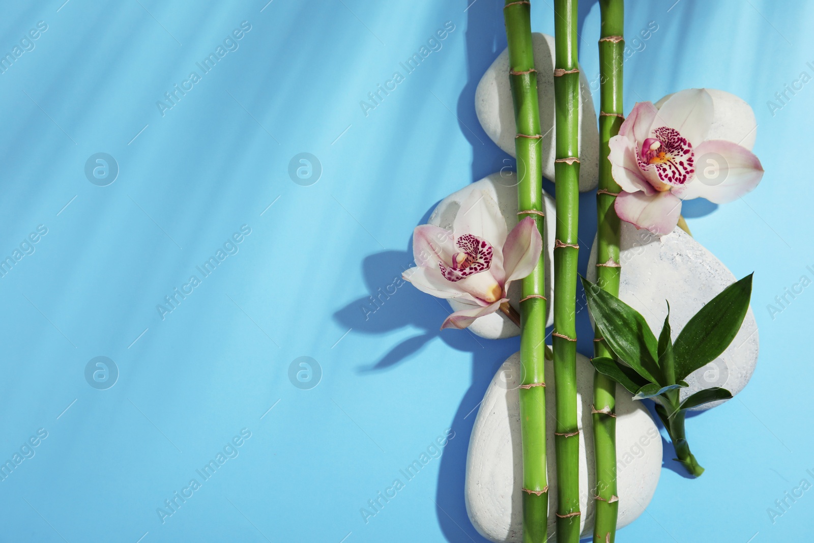
<svg viewBox="0 0 814 543">
<path fill-rule="evenodd" d="M 665 299 L 670 302 L 670 326 L 675 341 L 698 309 L 740 279 L 677 226 L 659 238 L 623 221 L 619 247 L 622 265 L 619 298 L 645 317 L 656 337 L 667 317 Z M 594 240 L 588 262 L 591 281 L 596 280 L 596 258 Z M 741 330 L 724 353 L 687 376 L 689 388 L 681 389 L 681 400 L 702 388 L 723 387 L 733 395 L 741 392 L 755 371 L 758 351 L 758 326 L 750 307 Z M 702 411 L 722 403 L 714 401 L 693 410 Z"/>
</svg>

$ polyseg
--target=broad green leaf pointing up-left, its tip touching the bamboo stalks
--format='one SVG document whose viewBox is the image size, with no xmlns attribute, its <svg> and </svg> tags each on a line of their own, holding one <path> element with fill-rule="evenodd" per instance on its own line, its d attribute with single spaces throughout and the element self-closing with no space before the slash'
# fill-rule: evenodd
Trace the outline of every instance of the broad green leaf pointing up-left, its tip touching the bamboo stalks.
<svg viewBox="0 0 814 543">
<path fill-rule="evenodd" d="M 658 345 L 645 317 L 588 279 L 581 279 L 593 322 L 616 356 L 650 383 L 662 383 L 656 364 Z"/>
</svg>

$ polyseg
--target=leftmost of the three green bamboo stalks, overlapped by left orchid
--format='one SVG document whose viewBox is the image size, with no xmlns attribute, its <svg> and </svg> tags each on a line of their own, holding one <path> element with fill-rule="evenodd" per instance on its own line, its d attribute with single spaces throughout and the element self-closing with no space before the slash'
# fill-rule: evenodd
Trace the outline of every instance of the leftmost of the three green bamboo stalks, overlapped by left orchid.
<svg viewBox="0 0 814 543">
<path fill-rule="evenodd" d="M 542 153 L 537 75 L 532 54 L 529 2 L 506 0 L 503 15 L 509 42 L 509 81 L 517 136 L 518 209 L 536 222 L 543 236 Z M 543 238 L 545 239 L 545 237 Z M 523 279 L 520 301 L 519 388 L 523 440 L 523 541 L 545 543 L 548 534 L 549 486 L 545 465 L 545 251 Z"/>
</svg>

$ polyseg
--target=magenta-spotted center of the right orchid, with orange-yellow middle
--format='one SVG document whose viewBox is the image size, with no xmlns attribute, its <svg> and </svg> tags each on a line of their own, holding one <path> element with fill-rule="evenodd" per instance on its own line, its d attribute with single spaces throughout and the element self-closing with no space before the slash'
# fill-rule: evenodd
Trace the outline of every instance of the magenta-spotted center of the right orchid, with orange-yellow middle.
<svg viewBox="0 0 814 543">
<path fill-rule="evenodd" d="M 653 136 L 641 144 L 637 160 L 641 169 L 655 169 L 663 183 L 656 190 L 670 190 L 671 186 L 689 182 L 695 173 L 692 144 L 678 130 L 667 126 L 655 129 Z"/>
</svg>

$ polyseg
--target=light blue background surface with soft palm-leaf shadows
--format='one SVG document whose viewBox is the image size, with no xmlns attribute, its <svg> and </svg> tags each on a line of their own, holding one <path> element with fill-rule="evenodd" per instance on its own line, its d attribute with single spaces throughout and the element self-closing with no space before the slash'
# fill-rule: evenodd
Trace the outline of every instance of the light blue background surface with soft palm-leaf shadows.
<svg viewBox="0 0 814 543">
<path fill-rule="evenodd" d="M 409 285 L 366 320 L 361 306 L 409 265 L 434 204 L 506 158 L 473 105 L 505 47 L 501 2 L 265 2 L 5 6 L 3 54 L 37 21 L 48 29 L 0 75 L 0 253 L 37 225 L 48 233 L 0 278 L 0 458 L 39 428 L 48 437 L 0 482 L 0 541 L 484 541 L 463 503 L 466 447 L 517 340 L 439 333 L 444 304 Z M 733 204 L 685 206 L 737 277 L 755 271 L 758 368 L 737 399 L 688 422 L 705 475 L 666 462 L 619 541 L 811 541 L 814 490 L 775 523 L 767 508 L 814 482 L 814 287 L 774 318 L 766 305 L 812 278 L 814 83 L 773 115 L 766 103 L 814 75 L 814 7 L 627 3 L 628 45 L 659 29 L 625 63 L 626 111 L 689 87 L 737 94 L 755 109 L 766 175 Z M 532 15 L 553 33 L 551 2 Z M 598 15 L 583 2 L 589 79 Z M 156 101 L 244 20 L 239 49 L 162 116 Z M 365 116 L 360 101 L 446 21 L 443 48 Z M 120 166 L 112 185 L 85 178 L 97 152 Z M 300 152 L 322 163 L 312 186 L 288 176 Z M 156 304 L 242 225 L 239 252 L 162 320 Z M 580 326 L 589 353 L 584 313 Z M 120 370 L 103 391 L 84 377 L 97 356 Z M 300 356 L 322 366 L 316 388 L 288 379 Z M 242 428 L 239 456 L 162 524 L 156 508 Z M 360 508 L 448 428 L 443 456 L 365 523 Z"/>
</svg>

